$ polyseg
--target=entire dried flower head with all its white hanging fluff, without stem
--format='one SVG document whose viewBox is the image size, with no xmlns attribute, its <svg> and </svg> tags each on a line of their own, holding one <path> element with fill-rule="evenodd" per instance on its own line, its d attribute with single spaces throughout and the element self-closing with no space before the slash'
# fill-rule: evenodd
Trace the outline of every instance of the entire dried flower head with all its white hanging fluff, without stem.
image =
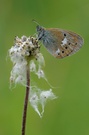
<svg viewBox="0 0 89 135">
<path fill-rule="evenodd" d="M 38 79 L 48 80 L 43 71 L 45 65 L 44 57 L 40 53 L 40 45 L 38 40 L 34 37 L 22 36 L 21 38 L 16 37 L 14 45 L 9 49 L 9 56 L 13 62 L 13 68 L 11 71 L 10 82 L 20 83 L 26 86 L 26 70 L 27 64 L 29 63 L 29 69 Z M 30 78 L 31 80 L 31 78 Z M 49 84 L 49 83 L 48 83 Z M 55 99 L 56 96 L 52 90 L 41 90 L 37 86 L 30 86 L 29 101 L 34 110 L 42 117 L 44 113 L 44 107 L 47 100 Z M 39 110 L 41 106 L 41 111 Z"/>
</svg>

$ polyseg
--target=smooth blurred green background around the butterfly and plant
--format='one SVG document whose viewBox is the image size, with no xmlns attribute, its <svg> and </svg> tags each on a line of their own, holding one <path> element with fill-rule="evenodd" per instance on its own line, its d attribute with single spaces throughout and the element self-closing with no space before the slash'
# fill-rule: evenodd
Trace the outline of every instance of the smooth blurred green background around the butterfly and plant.
<svg viewBox="0 0 89 135">
<path fill-rule="evenodd" d="M 59 87 L 53 89 L 58 99 L 47 103 L 42 119 L 29 104 L 26 135 L 89 135 L 89 0 L 0 0 L 0 135 L 21 135 L 25 87 L 9 89 L 8 49 L 15 36 L 36 33 L 32 19 L 44 27 L 79 33 L 85 43 L 62 60 L 41 47 L 45 74 Z M 35 81 L 42 89 L 50 88 L 43 80 Z"/>
</svg>

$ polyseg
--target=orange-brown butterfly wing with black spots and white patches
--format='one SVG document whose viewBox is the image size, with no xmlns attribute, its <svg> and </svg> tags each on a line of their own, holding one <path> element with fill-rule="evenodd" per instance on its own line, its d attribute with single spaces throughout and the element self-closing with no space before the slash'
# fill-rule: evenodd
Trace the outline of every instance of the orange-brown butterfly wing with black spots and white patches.
<svg viewBox="0 0 89 135">
<path fill-rule="evenodd" d="M 83 45 L 81 36 L 58 28 L 45 29 L 42 41 L 47 50 L 56 58 L 71 56 Z"/>
</svg>

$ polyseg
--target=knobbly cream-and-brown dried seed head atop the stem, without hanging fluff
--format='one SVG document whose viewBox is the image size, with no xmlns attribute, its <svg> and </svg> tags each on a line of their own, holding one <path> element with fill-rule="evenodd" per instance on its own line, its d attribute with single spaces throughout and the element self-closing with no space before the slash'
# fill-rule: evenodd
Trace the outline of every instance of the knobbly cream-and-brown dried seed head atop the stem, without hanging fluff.
<svg viewBox="0 0 89 135">
<path fill-rule="evenodd" d="M 21 38 L 16 37 L 14 46 L 9 50 L 11 57 L 20 56 L 20 58 L 31 58 L 36 57 L 40 52 L 40 45 L 38 40 L 34 37 L 22 36 Z"/>
</svg>

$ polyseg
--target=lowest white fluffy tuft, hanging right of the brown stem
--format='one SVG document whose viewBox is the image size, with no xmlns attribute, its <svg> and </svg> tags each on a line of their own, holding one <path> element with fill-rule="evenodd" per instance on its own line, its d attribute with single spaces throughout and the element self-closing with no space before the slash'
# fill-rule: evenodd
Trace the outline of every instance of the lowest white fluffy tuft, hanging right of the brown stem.
<svg viewBox="0 0 89 135">
<path fill-rule="evenodd" d="M 43 116 L 44 107 L 47 100 L 53 100 L 55 98 L 57 97 L 53 94 L 52 89 L 47 91 L 42 91 L 37 87 L 31 87 L 29 101 L 31 106 L 34 108 L 34 110 L 38 113 L 40 117 Z M 40 106 L 41 106 L 41 111 L 39 109 Z"/>
</svg>

